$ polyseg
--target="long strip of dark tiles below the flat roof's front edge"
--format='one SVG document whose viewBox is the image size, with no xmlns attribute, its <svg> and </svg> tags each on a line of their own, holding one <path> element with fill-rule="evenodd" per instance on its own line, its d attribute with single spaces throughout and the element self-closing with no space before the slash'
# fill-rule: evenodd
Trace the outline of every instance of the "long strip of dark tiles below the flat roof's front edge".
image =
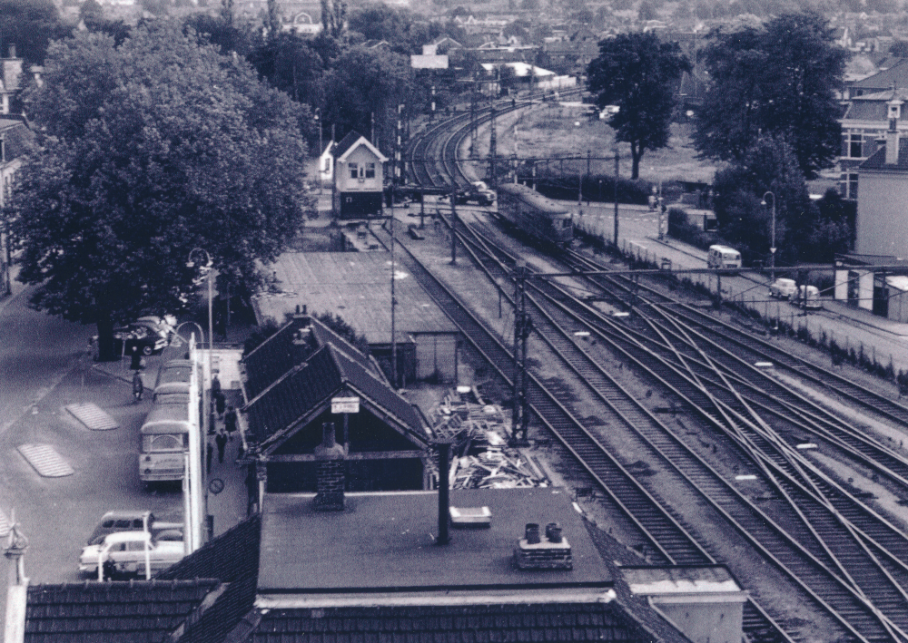
<svg viewBox="0 0 908 643">
<path fill-rule="evenodd" d="M 254 643 L 659 640 L 609 603 L 272 609 Z M 675 639 L 676 640 L 676 639 Z"/>
</svg>

